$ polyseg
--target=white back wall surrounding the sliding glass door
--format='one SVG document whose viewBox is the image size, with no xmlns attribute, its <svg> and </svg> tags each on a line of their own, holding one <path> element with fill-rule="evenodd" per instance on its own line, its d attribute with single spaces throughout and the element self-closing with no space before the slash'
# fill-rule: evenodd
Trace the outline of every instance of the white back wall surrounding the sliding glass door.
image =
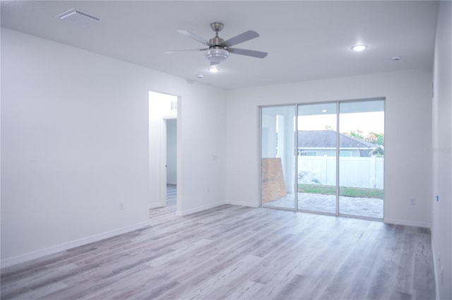
<svg viewBox="0 0 452 300">
<path fill-rule="evenodd" d="M 401 71 L 228 92 L 229 203 L 257 206 L 258 106 L 386 97 L 385 221 L 429 227 L 432 73 Z M 407 151 L 416 149 L 415 151 Z M 410 206 L 410 198 L 416 205 Z"/>
</svg>

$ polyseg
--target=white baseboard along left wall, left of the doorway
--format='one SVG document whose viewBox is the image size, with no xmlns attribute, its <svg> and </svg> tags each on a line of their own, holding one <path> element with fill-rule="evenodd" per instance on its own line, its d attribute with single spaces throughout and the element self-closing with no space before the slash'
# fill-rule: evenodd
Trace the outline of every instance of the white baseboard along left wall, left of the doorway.
<svg viewBox="0 0 452 300">
<path fill-rule="evenodd" d="M 133 224 L 133 225 L 129 225 L 126 227 L 122 227 L 119 229 L 114 229 L 111 230 L 109 232 L 102 232 L 101 234 L 95 234 L 93 236 L 87 236 L 84 237 L 82 239 L 76 239 L 73 241 L 68 241 L 66 243 L 63 244 L 59 244 L 59 245 L 55 245 L 55 246 L 51 246 L 48 248 L 44 248 L 41 250 L 37 250 L 37 251 L 32 251 L 29 253 L 25 253 L 25 254 L 20 254 L 19 256 L 13 256 L 11 258 L 6 258 L 4 260 L 1 260 L 1 268 L 8 268 L 11 267 L 12 265 L 17 265 L 19 263 L 25 263 L 29 260 L 33 260 L 33 259 L 37 259 L 37 258 L 42 258 L 44 256 L 48 256 L 50 254 L 54 254 L 54 253 L 58 253 L 61 251 L 66 251 L 69 250 L 71 248 L 76 248 L 78 246 L 83 246 L 86 244 L 90 244 L 93 243 L 95 241 L 100 241 L 102 239 L 107 239 L 109 237 L 112 236 L 117 236 L 119 234 L 125 234 L 127 232 L 133 232 L 134 230 L 137 229 L 143 229 L 145 227 L 150 226 L 150 222 L 149 221 L 144 221 L 144 222 L 140 222 L 137 224 Z"/>
</svg>

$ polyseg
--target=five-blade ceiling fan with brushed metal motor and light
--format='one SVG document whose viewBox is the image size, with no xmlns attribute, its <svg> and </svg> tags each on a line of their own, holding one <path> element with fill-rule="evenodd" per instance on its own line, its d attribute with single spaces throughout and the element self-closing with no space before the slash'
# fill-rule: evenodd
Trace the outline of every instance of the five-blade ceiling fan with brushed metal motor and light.
<svg viewBox="0 0 452 300">
<path fill-rule="evenodd" d="M 177 30 L 177 32 L 179 32 L 180 34 L 185 35 L 186 37 L 190 37 L 191 39 L 196 40 L 197 42 L 201 42 L 201 44 L 208 46 L 208 48 L 176 50 L 168 51 L 165 53 L 169 54 L 184 51 L 205 51 L 204 56 L 206 56 L 206 59 L 210 61 L 210 66 L 220 64 L 220 62 L 225 61 L 227 57 L 229 57 L 230 53 L 258 57 L 259 59 L 263 59 L 264 57 L 267 56 L 268 54 L 267 52 L 231 48 L 236 44 L 240 44 L 242 42 L 246 42 L 248 40 L 252 40 L 258 37 L 259 34 L 256 31 L 248 30 L 246 32 L 241 33 L 240 35 L 231 37 L 229 40 L 223 40 L 221 37 L 218 36 L 218 32 L 220 32 L 223 29 L 223 26 L 224 26 L 223 23 L 220 22 L 210 23 L 210 28 L 212 28 L 212 30 L 215 31 L 215 37 L 211 38 L 210 40 L 205 40 L 202 37 L 199 37 L 198 35 L 195 35 L 194 33 L 191 33 L 187 30 Z"/>
</svg>

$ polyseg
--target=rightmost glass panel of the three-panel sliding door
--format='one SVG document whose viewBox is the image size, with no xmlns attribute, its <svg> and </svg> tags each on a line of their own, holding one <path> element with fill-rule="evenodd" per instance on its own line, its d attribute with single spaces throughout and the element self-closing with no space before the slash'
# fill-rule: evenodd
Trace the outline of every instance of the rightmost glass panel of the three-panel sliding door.
<svg viewBox="0 0 452 300">
<path fill-rule="evenodd" d="M 384 101 L 339 104 L 339 213 L 383 218 Z"/>
</svg>

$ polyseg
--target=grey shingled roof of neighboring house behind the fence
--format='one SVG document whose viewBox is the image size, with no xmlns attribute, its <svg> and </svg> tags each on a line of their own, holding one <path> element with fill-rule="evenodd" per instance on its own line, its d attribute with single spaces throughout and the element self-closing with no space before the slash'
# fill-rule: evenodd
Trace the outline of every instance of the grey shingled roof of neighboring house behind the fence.
<svg viewBox="0 0 452 300">
<path fill-rule="evenodd" d="M 339 133 L 340 148 L 375 148 L 377 145 L 365 140 Z M 299 148 L 336 148 L 336 131 L 298 131 Z"/>
</svg>

